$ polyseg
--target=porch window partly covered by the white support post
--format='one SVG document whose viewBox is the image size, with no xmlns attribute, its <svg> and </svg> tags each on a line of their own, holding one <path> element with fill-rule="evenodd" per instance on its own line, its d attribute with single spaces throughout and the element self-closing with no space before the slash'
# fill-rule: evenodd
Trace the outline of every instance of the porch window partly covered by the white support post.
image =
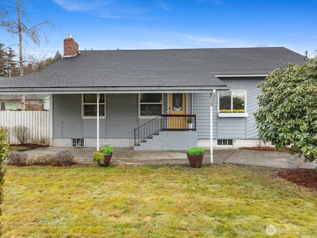
<svg viewBox="0 0 317 238">
<path fill-rule="evenodd" d="M 97 117 L 97 95 L 98 94 L 83 94 L 83 117 L 96 118 Z M 99 116 L 105 117 L 105 94 L 100 94 L 99 99 Z"/>
</svg>

